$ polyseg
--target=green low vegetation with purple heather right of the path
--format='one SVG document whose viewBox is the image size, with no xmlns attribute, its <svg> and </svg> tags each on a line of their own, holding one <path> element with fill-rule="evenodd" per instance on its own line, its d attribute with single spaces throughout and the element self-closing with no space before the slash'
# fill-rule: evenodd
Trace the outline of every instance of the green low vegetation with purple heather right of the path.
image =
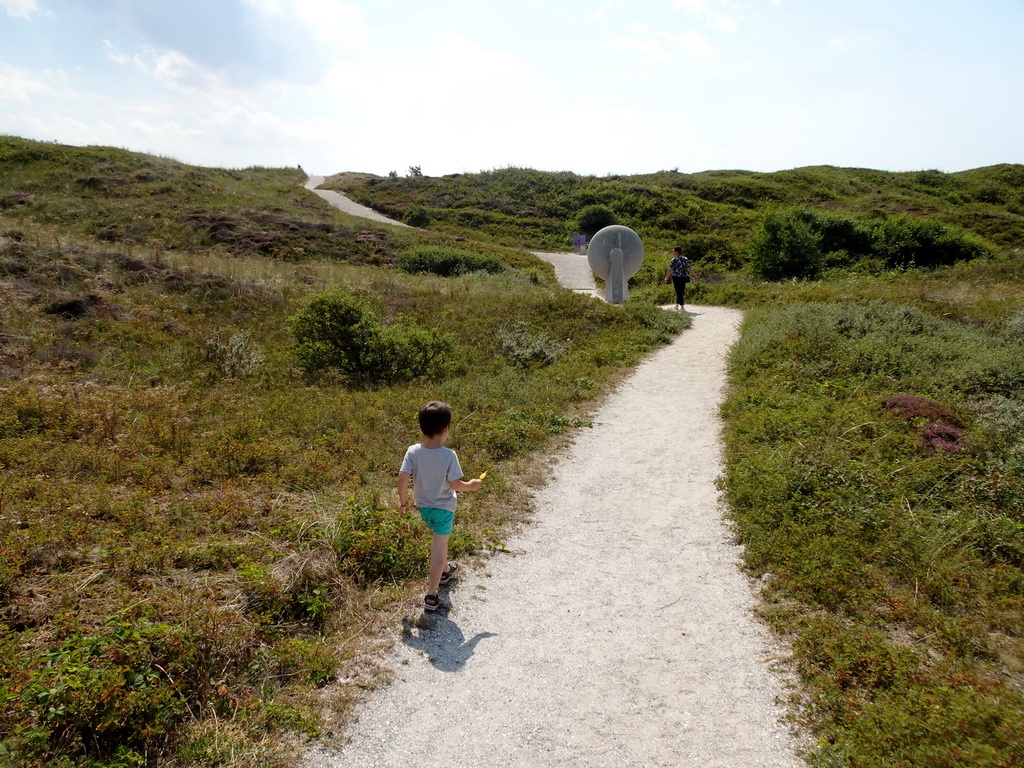
<svg viewBox="0 0 1024 768">
<path fill-rule="evenodd" d="M 956 319 L 767 306 L 730 356 L 723 487 L 812 765 L 1024 759 L 1022 287 L 1001 288 L 1010 313 L 965 296 Z"/>
</svg>

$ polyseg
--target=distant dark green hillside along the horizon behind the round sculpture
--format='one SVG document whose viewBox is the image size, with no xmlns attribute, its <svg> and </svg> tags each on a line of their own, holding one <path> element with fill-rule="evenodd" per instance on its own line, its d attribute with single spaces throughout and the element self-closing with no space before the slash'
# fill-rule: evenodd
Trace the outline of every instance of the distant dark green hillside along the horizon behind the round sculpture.
<svg viewBox="0 0 1024 768">
<path fill-rule="evenodd" d="M 963 173 L 887 173 L 828 166 L 777 173 L 663 171 L 637 176 L 579 176 L 522 168 L 442 177 L 330 179 L 354 200 L 400 220 L 496 243 L 564 250 L 590 206 L 610 210 L 649 251 L 702 241 L 700 257 L 719 266 L 745 263 L 763 212 L 800 206 L 851 219 L 927 216 L 985 238 L 998 248 L 1024 242 L 1024 166 Z M 707 266 L 707 264 L 701 264 Z"/>
</svg>

